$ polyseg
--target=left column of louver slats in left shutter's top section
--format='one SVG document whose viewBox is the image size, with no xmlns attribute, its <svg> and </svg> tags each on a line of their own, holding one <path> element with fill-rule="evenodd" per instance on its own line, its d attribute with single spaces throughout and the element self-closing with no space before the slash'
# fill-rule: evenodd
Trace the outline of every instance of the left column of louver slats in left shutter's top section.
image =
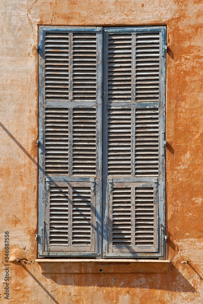
<svg viewBox="0 0 203 304">
<path fill-rule="evenodd" d="M 45 34 L 45 100 L 69 100 L 69 34 Z"/>
</svg>

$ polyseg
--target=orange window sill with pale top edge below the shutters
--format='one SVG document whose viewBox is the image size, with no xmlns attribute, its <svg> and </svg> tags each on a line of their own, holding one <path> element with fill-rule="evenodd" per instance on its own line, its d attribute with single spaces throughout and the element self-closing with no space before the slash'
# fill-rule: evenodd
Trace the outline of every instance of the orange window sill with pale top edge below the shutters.
<svg viewBox="0 0 203 304">
<path fill-rule="evenodd" d="M 169 260 L 36 259 L 41 273 L 167 273 Z"/>
</svg>

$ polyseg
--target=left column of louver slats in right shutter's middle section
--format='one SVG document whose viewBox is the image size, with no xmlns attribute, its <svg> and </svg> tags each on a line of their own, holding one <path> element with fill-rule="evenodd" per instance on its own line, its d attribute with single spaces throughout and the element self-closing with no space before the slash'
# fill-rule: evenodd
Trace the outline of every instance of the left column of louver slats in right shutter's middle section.
<svg viewBox="0 0 203 304">
<path fill-rule="evenodd" d="M 131 109 L 108 110 L 108 175 L 131 174 Z"/>
</svg>

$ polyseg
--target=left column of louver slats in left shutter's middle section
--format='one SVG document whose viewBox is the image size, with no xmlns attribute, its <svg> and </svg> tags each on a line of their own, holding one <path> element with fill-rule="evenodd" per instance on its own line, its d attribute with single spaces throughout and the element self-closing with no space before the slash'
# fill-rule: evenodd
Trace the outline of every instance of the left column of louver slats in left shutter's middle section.
<svg viewBox="0 0 203 304">
<path fill-rule="evenodd" d="M 68 174 L 68 109 L 45 110 L 45 172 Z"/>
</svg>

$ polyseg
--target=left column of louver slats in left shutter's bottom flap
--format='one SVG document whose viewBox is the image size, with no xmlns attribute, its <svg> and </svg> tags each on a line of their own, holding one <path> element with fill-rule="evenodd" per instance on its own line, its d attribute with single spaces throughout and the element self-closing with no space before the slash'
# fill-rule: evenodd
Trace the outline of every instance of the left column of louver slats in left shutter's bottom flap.
<svg viewBox="0 0 203 304">
<path fill-rule="evenodd" d="M 68 246 L 69 187 L 50 187 L 49 245 Z"/>
</svg>

